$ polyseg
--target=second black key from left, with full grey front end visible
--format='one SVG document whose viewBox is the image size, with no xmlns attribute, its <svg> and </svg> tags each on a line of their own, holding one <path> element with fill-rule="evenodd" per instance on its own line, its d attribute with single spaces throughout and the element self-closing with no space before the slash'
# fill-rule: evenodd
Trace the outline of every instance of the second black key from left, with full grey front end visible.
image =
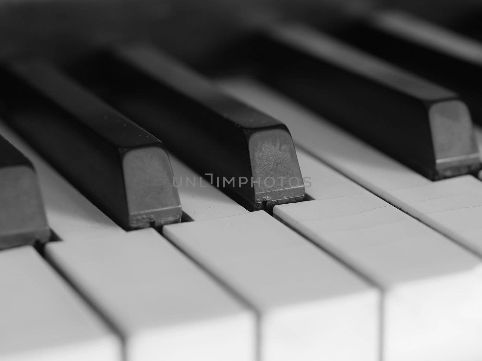
<svg viewBox="0 0 482 361">
<path fill-rule="evenodd" d="M 11 63 L 2 80 L 3 118 L 121 227 L 180 220 L 158 139 L 45 62 Z"/>
</svg>

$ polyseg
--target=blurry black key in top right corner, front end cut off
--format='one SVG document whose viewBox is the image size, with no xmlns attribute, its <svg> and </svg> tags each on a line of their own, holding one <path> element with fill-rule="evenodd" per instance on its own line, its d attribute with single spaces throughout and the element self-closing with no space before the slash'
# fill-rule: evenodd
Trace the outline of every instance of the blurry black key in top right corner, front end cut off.
<svg viewBox="0 0 482 361">
<path fill-rule="evenodd" d="M 376 12 L 338 34 L 460 94 L 482 124 L 482 43 L 401 12 Z"/>
</svg>

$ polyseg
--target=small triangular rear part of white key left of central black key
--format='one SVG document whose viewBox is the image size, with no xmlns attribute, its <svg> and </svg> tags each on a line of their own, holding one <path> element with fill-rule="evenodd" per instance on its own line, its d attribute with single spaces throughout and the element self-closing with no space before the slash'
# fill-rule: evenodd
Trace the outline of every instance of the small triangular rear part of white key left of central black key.
<svg viewBox="0 0 482 361">
<path fill-rule="evenodd" d="M 174 155 L 169 154 L 169 158 L 182 209 L 192 220 L 215 219 L 248 212 Z"/>
</svg>

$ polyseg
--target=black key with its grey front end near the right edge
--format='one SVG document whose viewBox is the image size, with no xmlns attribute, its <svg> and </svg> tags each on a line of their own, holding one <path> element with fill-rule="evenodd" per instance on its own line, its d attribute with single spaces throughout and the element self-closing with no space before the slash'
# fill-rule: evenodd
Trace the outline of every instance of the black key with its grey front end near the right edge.
<svg viewBox="0 0 482 361">
<path fill-rule="evenodd" d="M 272 28 L 258 49 L 265 80 L 428 179 L 480 168 L 452 91 L 304 26 Z"/>
</svg>

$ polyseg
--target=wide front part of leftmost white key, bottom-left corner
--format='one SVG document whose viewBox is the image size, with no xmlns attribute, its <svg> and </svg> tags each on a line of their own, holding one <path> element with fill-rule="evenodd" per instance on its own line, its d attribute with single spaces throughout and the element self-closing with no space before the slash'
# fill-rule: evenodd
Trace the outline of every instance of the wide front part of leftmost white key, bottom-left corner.
<svg viewBox="0 0 482 361">
<path fill-rule="evenodd" d="M 0 360 L 121 361 L 120 341 L 33 247 L 0 252 Z"/>
</svg>

